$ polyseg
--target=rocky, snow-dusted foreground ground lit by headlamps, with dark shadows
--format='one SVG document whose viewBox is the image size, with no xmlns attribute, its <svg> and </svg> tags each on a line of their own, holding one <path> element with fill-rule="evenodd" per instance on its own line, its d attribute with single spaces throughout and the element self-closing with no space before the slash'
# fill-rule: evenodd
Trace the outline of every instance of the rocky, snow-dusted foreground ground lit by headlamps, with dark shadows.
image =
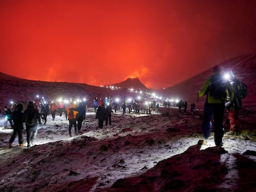
<svg viewBox="0 0 256 192">
<path fill-rule="evenodd" d="M 70 137 L 65 117 L 48 116 L 31 148 L 8 148 L 12 130 L 0 122 L 0 191 L 255 191 L 255 115 L 241 116 L 241 135 L 205 143 L 202 111 L 113 113 L 98 128 L 89 109 L 82 135 Z M 74 131 L 74 128 L 72 129 Z M 26 139 L 24 130 L 24 139 Z M 200 142 L 199 142 L 200 143 Z M 26 143 L 25 143 L 26 146 Z"/>
</svg>

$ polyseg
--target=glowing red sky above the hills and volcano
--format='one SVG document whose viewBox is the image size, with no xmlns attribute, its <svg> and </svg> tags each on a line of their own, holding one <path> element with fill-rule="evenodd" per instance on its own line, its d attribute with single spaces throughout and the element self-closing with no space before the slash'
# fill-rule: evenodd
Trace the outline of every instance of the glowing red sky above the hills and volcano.
<svg viewBox="0 0 256 192">
<path fill-rule="evenodd" d="M 1 0 L 0 72 L 161 89 L 256 52 L 252 0 Z"/>
</svg>

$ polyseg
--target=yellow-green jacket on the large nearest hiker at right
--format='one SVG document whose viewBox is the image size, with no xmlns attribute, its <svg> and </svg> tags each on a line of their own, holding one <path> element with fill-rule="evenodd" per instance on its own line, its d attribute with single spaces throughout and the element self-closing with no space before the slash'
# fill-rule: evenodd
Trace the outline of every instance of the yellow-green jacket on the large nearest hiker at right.
<svg viewBox="0 0 256 192">
<path fill-rule="evenodd" d="M 205 82 L 203 83 L 203 86 L 201 88 L 201 91 L 199 91 L 198 93 L 198 97 L 202 97 L 203 95 L 207 95 L 207 98 L 206 98 L 206 102 L 207 103 L 210 103 L 210 104 L 224 104 L 224 102 L 226 101 L 226 97 L 223 97 L 221 99 L 215 99 L 213 98 L 213 96 L 211 96 L 211 93 L 210 93 L 210 85 L 211 85 L 211 78 L 216 75 L 216 73 L 213 73 L 213 75 L 211 75 L 209 78 L 207 78 L 207 80 L 205 80 Z M 234 100 L 234 91 L 233 89 L 231 88 L 231 86 L 229 85 L 229 83 L 227 83 L 227 87 L 226 87 L 227 91 L 229 92 L 230 94 L 230 99 L 231 101 Z"/>
</svg>

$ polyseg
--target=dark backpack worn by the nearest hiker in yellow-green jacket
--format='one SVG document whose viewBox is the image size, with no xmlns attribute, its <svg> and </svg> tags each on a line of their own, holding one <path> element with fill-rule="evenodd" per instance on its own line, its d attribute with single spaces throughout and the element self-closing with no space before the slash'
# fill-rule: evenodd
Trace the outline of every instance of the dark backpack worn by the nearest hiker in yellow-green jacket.
<svg viewBox="0 0 256 192">
<path fill-rule="evenodd" d="M 220 74 L 211 77 L 208 91 L 214 99 L 224 99 L 226 97 L 226 81 L 223 80 Z"/>
</svg>

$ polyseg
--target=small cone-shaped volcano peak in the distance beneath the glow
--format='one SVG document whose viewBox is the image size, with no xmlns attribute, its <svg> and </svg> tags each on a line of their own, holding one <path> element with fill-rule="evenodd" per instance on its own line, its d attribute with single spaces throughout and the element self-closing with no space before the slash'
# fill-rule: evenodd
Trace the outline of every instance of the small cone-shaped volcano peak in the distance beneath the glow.
<svg viewBox="0 0 256 192">
<path fill-rule="evenodd" d="M 139 80 L 139 78 L 127 78 L 127 80 L 122 81 L 120 83 L 113 84 L 111 86 L 121 87 L 122 89 L 129 90 L 133 88 L 134 90 L 148 90 L 147 86 L 143 85 L 143 83 Z"/>
</svg>

